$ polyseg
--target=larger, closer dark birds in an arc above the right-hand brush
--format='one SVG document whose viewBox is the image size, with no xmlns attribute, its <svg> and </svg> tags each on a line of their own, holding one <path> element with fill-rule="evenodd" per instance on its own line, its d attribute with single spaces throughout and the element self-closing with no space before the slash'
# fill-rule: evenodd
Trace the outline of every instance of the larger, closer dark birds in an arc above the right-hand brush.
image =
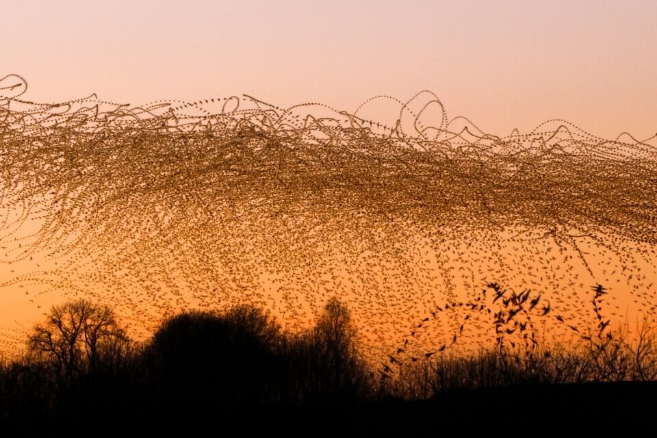
<svg viewBox="0 0 657 438">
<path fill-rule="evenodd" d="M 396 348 L 395 352 L 387 354 L 386 361 L 379 363 L 378 372 L 381 378 L 383 380 L 393 378 L 402 372 L 404 365 L 417 361 L 430 362 L 433 361 L 433 357 L 443 357 L 443 355 L 448 355 L 452 359 L 463 357 L 462 350 L 457 355 L 452 352 L 457 342 L 469 346 L 469 352 L 476 354 L 481 350 L 472 349 L 472 346 L 477 344 L 472 338 L 486 337 L 487 331 L 491 329 L 494 333 L 491 340 L 494 342 L 488 346 L 488 350 L 494 348 L 500 355 L 511 358 L 539 355 L 550 357 L 549 347 L 554 339 L 550 339 L 550 335 L 546 336 L 545 332 L 541 333 L 539 326 L 545 326 L 552 318 L 560 325 L 558 328 L 570 334 L 567 342 L 571 346 L 579 342 L 586 342 L 589 346 L 591 344 L 602 346 L 613 339 L 613 330 L 610 326 L 612 320 L 606 318 L 603 309 L 606 304 L 605 296 L 608 295 L 608 289 L 603 285 L 597 284 L 591 287 L 593 290 L 588 294 L 593 304 L 593 324 L 587 320 L 571 322 L 565 320 L 563 315 L 555 314 L 550 300 L 543 298 L 541 292 L 524 289 L 517 293 L 495 282 L 484 286 L 480 295 L 465 302 L 448 300 L 441 305 L 434 303 L 429 311 L 430 316 L 426 316 L 419 324 L 413 326 L 409 336 L 404 339 L 403 347 Z M 452 318 L 455 318 L 460 326 L 450 334 L 443 331 L 441 335 L 436 336 L 434 333 L 433 339 L 440 339 L 442 336 L 443 343 L 433 351 L 426 351 L 426 343 L 415 341 L 422 336 L 421 330 L 426 325 L 441 320 L 443 312 L 451 312 Z M 464 338 L 465 342 L 463 342 Z M 562 337 L 562 342 L 564 339 L 566 338 Z M 545 344 L 548 349 L 545 349 Z"/>
</svg>

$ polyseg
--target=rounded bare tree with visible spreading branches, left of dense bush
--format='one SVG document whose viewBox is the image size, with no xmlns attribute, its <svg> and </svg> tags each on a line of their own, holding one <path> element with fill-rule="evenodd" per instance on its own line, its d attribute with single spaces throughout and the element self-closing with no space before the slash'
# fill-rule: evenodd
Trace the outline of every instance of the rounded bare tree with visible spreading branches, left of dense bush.
<svg viewBox="0 0 657 438">
<path fill-rule="evenodd" d="M 127 342 L 114 311 L 89 300 L 53 306 L 46 322 L 37 324 L 29 337 L 31 355 L 53 363 L 66 378 L 80 371 L 94 372 L 103 352 L 116 355 Z"/>
</svg>

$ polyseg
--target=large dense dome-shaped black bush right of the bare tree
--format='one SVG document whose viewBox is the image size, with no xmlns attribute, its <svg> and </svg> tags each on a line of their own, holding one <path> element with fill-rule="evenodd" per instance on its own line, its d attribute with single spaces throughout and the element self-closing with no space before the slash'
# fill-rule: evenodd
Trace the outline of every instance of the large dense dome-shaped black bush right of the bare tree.
<svg viewBox="0 0 657 438">
<path fill-rule="evenodd" d="M 204 411 L 266 402 L 278 337 L 278 326 L 251 307 L 177 315 L 144 352 L 150 384 L 171 407 Z"/>
</svg>

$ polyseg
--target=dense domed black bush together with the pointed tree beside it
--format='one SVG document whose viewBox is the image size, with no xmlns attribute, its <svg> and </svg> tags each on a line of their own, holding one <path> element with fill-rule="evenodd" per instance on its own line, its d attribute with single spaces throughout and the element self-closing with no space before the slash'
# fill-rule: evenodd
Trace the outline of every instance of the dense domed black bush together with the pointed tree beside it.
<svg viewBox="0 0 657 438">
<path fill-rule="evenodd" d="M 170 407 L 225 409 L 244 404 L 355 401 L 368 393 L 348 309 L 326 305 L 318 324 L 282 333 L 266 313 L 235 307 L 190 312 L 166 321 L 144 352 L 151 394 Z M 193 403 L 193 404 L 194 404 Z"/>
</svg>

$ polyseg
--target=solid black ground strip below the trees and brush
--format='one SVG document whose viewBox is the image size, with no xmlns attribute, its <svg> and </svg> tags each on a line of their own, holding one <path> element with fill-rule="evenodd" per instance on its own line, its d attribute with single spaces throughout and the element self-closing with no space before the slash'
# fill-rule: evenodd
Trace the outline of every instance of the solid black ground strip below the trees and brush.
<svg viewBox="0 0 657 438">
<path fill-rule="evenodd" d="M 126 400 L 126 406 L 131 402 Z M 144 407 L 145 408 L 145 407 Z M 90 407 L 92 409 L 92 407 Z M 5 424 L 1 436 L 439 436 L 590 433 L 647 428 L 657 420 L 657 383 L 586 383 L 453 390 L 433 400 L 209 413 L 125 409 Z"/>
</svg>

